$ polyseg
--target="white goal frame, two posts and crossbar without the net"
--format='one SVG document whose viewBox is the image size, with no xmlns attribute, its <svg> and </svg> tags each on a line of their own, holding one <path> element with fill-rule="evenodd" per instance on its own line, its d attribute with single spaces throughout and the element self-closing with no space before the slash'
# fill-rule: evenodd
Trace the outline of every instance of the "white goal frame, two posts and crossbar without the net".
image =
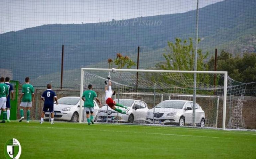
<svg viewBox="0 0 256 159">
<path fill-rule="evenodd" d="M 83 94 L 84 88 L 84 71 L 102 71 L 102 72 L 112 72 L 112 69 L 97 69 L 97 68 L 81 68 L 81 80 L 80 80 L 80 97 Z M 187 74 L 212 74 L 212 75 L 224 75 L 224 87 L 223 87 L 223 119 L 222 119 L 222 129 L 225 130 L 226 127 L 226 101 L 227 101 L 227 79 L 228 75 L 226 71 L 173 71 L 173 70 L 136 70 L 136 69 L 116 69 L 116 72 L 145 72 L 145 73 L 187 73 Z M 196 88 L 195 88 L 196 89 Z M 80 106 L 83 105 L 82 99 L 80 99 Z M 80 107 L 82 108 L 82 107 Z M 79 110 L 82 114 L 82 109 Z M 79 123 L 82 122 L 82 116 L 79 115 Z"/>
</svg>

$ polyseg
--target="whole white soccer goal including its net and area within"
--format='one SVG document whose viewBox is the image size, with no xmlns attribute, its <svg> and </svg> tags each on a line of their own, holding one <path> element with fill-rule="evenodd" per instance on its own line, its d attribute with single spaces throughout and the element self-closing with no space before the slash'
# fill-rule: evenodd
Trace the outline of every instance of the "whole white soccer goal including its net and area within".
<svg viewBox="0 0 256 159">
<path fill-rule="evenodd" d="M 196 88 L 194 74 L 197 76 Z M 243 127 L 245 85 L 229 78 L 227 72 L 81 68 L 80 96 L 84 88 L 92 84 L 100 94 L 102 104 L 105 104 L 104 80 L 108 76 L 111 77 L 112 90 L 116 91 L 112 98 L 129 107 L 128 114 L 120 114 L 104 105 L 97 112 L 96 122 L 199 126 L 223 130 Z M 194 89 L 196 104 L 193 104 Z"/>
</svg>

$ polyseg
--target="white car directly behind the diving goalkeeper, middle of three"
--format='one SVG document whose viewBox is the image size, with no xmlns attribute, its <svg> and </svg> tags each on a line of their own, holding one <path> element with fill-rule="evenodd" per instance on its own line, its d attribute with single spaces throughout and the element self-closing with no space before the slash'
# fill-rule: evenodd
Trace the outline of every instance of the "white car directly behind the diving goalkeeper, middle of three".
<svg viewBox="0 0 256 159">
<path fill-rule="evenodd" d="M 128 122 L 128 123 L 145 123 L 146 121 L 146 114 L 148 112 L 148 106 L 145 102 L 141 100 L 134 100 L 134 99 L 117 99 L 114 100 L 115 102 L 127 106 L 129 108 L 128 114 L 121 114 L 117 111 L 111 109 L 108 105 L 104 105 L 98 111 L 98 115 L 96 116 L 97 122 Z M 117 107 L 117 106 L 116 106 Z M 119 109 L 126 110 L 124 108 L 119 107 Z M 108 116 L 108 119 L 107 119 Z"/>
</svg>

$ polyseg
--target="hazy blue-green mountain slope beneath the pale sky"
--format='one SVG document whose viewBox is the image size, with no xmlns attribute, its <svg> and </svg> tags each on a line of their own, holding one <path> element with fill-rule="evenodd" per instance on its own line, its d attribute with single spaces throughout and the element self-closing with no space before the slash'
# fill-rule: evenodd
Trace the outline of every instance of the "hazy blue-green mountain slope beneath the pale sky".
<svg viewBox="0 0 256 159">
<path fill-rule="evenodd" d="M 254 0 L 226 0 L 199 9 L 199 48 L 210 55 L 214 48 L 231 53 L 255 52 L 255 8 Z M 163 59 L 167 41 L 195 37 L 195 19 L 193 10 L 104 23 L 43 25 L 3 33 L 0 68 L 10 69 L 15 80 L 44 76 L 52 81 L 58 74 L 59 81 L 62 45 L 66 72 L 80 67 L 107 67 L 107 59 L 115 58 L 117 52 L 136 62 L 137 46 L 141 48 L 140 68 L 153 67 Z M 64 78 L 72 77 L 64 74 Z"/>
</svg>

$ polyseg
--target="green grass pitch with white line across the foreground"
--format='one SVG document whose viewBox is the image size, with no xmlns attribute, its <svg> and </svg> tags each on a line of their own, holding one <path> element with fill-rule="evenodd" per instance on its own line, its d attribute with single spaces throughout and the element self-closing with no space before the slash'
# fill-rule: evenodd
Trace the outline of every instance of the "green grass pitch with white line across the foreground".
<svg viewBox="0 0 256 159">
<path fill-rule="evenodd" d="M 256 132 L 56 122 L 0 124 L 0 158 L 16 138 L 21 159 L 256 158 Z"/>
</svg>

